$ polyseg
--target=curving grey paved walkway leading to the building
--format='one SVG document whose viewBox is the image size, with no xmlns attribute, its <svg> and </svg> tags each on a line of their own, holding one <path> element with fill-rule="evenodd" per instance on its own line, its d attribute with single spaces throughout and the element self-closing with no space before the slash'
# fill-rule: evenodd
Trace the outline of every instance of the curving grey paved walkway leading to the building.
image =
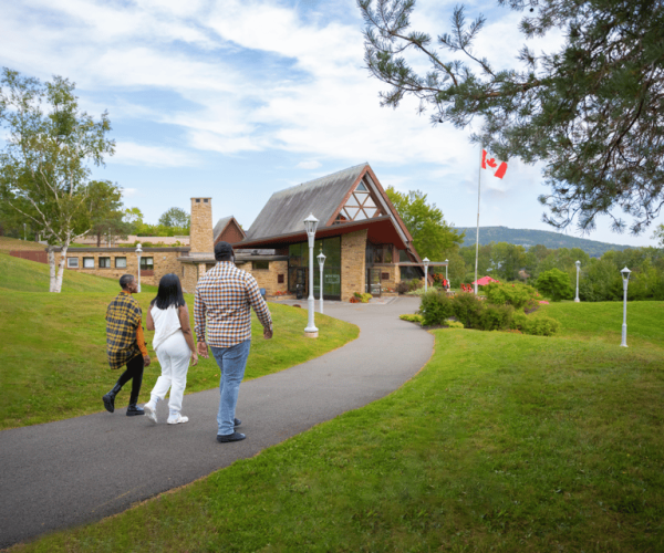
<svg viewBox="0 0 664 553">
<path fill-rule="evenodd" d="M 307 307 L 307 301 L 291 303 Z M 0 546 L 122 512 L 384 397 L 432 355 L 433 336 L 398 319 L 415 312 L 418 303 L 406 298 L 328 302 L 325 314 L 359 325 L 360 337 L 243 383 L 237 416 L 245 441 L 217 444 L 218 389 L 185 396 L 186 425 L 154 426 L 120 408 L 113 415 L 102 411 L 0 432 Z M 104 392 L 100 389 L 100 407 Z M 121 405 L 125 399 L 123 394 Z M 160 421 L 167 416 L 164 404 Z"/>
</svg>

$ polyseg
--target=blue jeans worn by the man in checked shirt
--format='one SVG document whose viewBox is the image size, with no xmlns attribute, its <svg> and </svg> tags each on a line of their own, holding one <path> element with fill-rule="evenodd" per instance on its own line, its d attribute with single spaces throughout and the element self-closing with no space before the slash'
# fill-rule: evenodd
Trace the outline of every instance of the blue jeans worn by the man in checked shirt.
<svg viewBox="0 0 664 553">
<path fill-rule="evenodd" d="M 245 377 L 247 357 L 251 340 L 230 347 L 214 347 L 212 355 L 219 365 L 219 413 L 217 414 L 218 436 L 228 436 L 235 431 L 235 408 L 238 403 L 240 383 Z"/>
</svg>

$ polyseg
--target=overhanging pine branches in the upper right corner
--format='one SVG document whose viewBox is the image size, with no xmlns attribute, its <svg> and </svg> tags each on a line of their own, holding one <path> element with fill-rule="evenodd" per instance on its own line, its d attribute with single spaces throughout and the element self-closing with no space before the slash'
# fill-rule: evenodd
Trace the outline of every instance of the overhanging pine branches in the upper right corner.
<svg viewBox="0 0 664 553">
<path fill-rule="evenodd" d="M 633 217 L 632 232 L 644 231 L 664 204 L 664 2 L 499 3 L 527 10 L 520 23 L 527 39 L 559 30 L 562 49 L 536 55 L 523 46 L 520 69 L 497 71 L 473 50 L 483 15 L 467 24 L 464 8 L 455 8 L 452 32 L 434 42 L 409 30 L 415 0 L 359 0 L 366 65 L 392 86 L 382 104 L 396 107 L 414 95 L 422 111 L 432 108 L 434 124 L 466 127 L 479 117 L 475 143 L 504 159 L 546 161 L 551 191 L 540 201 L 554 227 L 577 220 L 589 231 L 606 215 L 622 231 L 625 222 L 611 213 L 620 207 Z M 418 73 L 406 50 L 423 55 L 430 70 Z"/>
</svg>

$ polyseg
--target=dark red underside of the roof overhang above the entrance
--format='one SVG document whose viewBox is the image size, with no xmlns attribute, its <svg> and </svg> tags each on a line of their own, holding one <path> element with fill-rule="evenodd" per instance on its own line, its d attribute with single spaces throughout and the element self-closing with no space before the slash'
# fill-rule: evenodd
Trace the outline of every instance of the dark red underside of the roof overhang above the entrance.
<svg viewBox="0 0 664 553">
<path fill-rule="evenodd" d="M 343 222 L 317 229 L 315 238 L 331 238 L 347 234 L 357 230 L 367 230 L 367 238 L 373 243 L 393 243 L 401 250 L 409 249 L 403 239 L 403 233 L 388 215 L 364 219 L 362 221 Z M 291 243 L 307 241 L 307 232 L 291 232 L 273 237 L 260 237 L 234 244 L 236 248 L 283 248 Z"/>
</svg>

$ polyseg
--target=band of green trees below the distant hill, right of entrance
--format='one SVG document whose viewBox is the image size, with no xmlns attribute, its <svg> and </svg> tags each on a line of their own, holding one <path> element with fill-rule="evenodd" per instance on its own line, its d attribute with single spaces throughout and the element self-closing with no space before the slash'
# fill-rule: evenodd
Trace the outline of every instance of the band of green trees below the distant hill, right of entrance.
<svg viewBox="0 0 664 553">
<path fill-rule="evenodd" d="M 475 280 L 475 247 L 465 247 L 449 253 L 448 275 L 453 288 Z M 535 284 L 544 271 L 559 269 L 570 275 L 574 286 L 577 268 L 581 262 L 579 298 L 587 302 L 616 301 L 623 298 L 620 270 L 627 267 L 632 274 L 627 289 L 629 300 L 664 300 L 664 250 L 629 248 L 608 251 L 601 258 L 591 258 L 579 248 L 549 249 L 491 242 L 479 247 L 478 276 L 489 275 L 502 282 L 519 281 Z M 437 272 L 445 273 L 445 269 Z"/>
</svg>

